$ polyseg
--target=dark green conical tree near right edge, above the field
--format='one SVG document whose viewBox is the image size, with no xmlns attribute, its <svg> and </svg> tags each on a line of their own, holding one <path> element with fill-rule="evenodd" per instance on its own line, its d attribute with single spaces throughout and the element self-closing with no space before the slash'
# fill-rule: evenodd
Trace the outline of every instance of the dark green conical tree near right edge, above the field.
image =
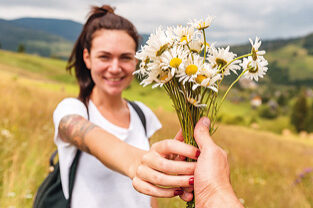
<svg viewBox="0 0 313 208">
<path fill-rule="evenodd" d="M 305 120 L 308 113 L 307 99 L 304 93 L 301 93 L 297 98 L 291 113 L 291 123 L 296 127 L 296 130 L 305 130 Z"/>
</svg>

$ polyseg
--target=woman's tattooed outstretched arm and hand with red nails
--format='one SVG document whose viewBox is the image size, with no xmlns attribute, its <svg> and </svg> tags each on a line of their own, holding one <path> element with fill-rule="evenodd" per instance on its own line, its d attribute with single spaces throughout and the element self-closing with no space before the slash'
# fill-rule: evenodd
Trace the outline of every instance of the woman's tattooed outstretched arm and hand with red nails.
<svg viewBox="0 0 313 208">
<path fill-rule="evenodd" d="M 108 168 L 133 179 L 134 187 L 141 193 L 155 197 L 184 196 L 180 187 L 193 187 L 190 180 L 195 163 L 170 159 L 173 153 L 195 159 L 198 149 L 191 145 L 163 140 L 152 145 L 150 151 L 144 151 L 119 140 L 80 115 L 63 117 L 58 131 L 64 142 L 92 154 Z M 190 196 L 187 198 L 189 200 Z"/>
</svg>

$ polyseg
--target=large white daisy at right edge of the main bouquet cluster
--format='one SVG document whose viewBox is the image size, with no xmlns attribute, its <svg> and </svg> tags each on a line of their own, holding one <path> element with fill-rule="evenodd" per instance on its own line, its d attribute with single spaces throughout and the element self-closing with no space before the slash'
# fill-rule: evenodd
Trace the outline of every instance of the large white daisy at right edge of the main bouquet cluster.
<svg viewBox="0 0 313 208">
<path fill-rule="evenodd" d="M 240 60 L 236 60 L 230 63 L 237 55 L 229 52 L 229 46 L 226 49 L 224 48 L 212 48 L 210 49 L 211 53 L 209 54 L 207 60 L 212 65 L 212 68 L 218 68 L 224 76 L 230 75 L 230 71 L 237 74 L 236 70 L 240 69 L 238 64 Z M 226 67 L 227 66 L 227 67 Z"/>
</svg>

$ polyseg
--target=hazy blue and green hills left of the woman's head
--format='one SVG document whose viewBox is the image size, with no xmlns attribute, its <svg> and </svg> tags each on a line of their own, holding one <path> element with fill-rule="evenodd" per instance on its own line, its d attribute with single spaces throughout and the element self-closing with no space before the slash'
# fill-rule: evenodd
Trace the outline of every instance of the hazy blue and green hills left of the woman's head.
<svg viewBox="0 0 313 208">
<path fill-rule="evenodd" d="M 0 19 L 0 48 L 17 51 L 20 44 L 26 53 L 67 59 L 82 24 L 72 20 L 49 18 Z M 140 46 L 149 35 L 142 34 Z"/>
</svg>

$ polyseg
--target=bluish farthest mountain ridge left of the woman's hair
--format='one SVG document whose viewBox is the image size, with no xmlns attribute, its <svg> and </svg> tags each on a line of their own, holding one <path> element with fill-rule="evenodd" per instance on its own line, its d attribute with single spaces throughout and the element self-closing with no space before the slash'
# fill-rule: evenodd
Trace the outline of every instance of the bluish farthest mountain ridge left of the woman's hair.
<svg viewBox="0 0 313 208">
<path fill-rule="evenodd" d="M 75 42 L 83 25 L 72 20 L 48 18 L 20 18 L 9 22 L 27 29 L 47 32 Z"/>
</svg>

